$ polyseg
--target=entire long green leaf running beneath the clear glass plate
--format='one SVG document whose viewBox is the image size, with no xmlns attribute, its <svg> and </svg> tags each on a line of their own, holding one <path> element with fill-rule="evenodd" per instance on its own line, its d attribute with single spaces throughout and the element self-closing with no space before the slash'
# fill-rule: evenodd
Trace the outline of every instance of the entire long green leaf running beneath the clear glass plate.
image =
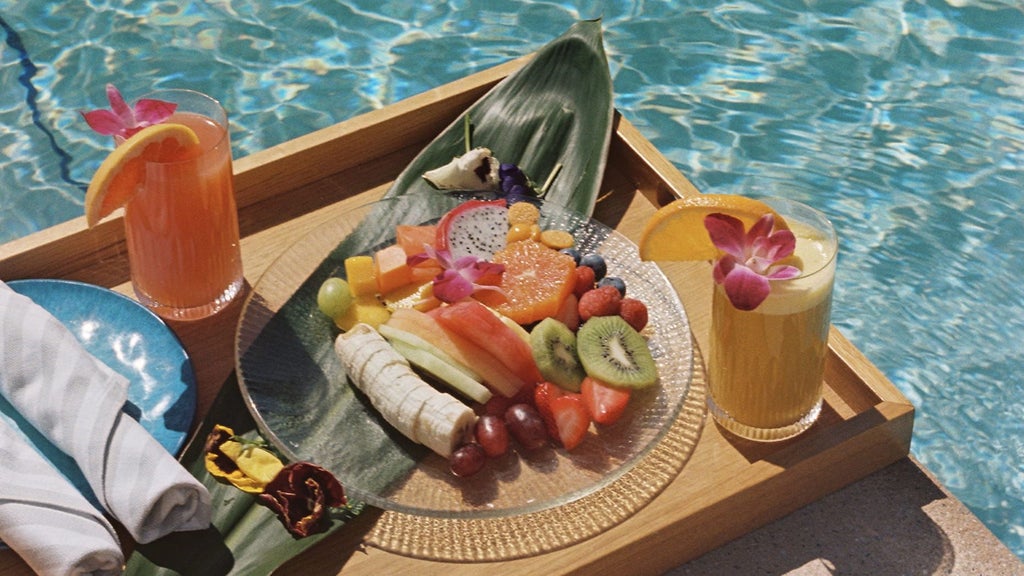
<svg viewBox="0 0 1024 576">
<path fill-rule="evenodd" d="M 561 165 L 550 183 L 546 202 L 590 215 L 601 184 L 612 121 L 611 80 L 603 49 L 600 20 L 578 23 L 564 35 L 543 47 L 523 68 L 488 91 L 467 112 L 473 126 L 473 146 L 492 149 L 503 162 L 517 164 L 536 181 L 543 181 Z M 282 345 L 297 346 L 308 359 L 304 366 L 288 366 L 281 380 L 268 389 L 285 390 L 281 397 L 282 422 L 296 421 L 314 426 L 313 435 L 331 438 L 325 426 L 362 426 L 358 429 L 364 451 L 337 466 L 359 466 L 360 482 L 387 486 L 400 480 L 416 465 L 422 447 L 411 446 L 387 426 L 360 424 L 376 417 L 366 402 L 349 386 L 328 386 L 329 374 L 343 373 L 331 343 L 333 324 L 315 310 L 321 283 L 336 274 L 344 255 L 365 253 L 393 236 L 394 225 L 428 221 L 459 202 L 458 197 L 433 190 L 423 178 L 466 150 L 465 118 L 453 122 L 398 176 L 377 205 L 346 240 L 302 283 L 295 294 L 267 323 L 265 334 L 253 344 L 254 357 L 273 358 Z M 397 206 L 400 205 L 400 209 Z M 358 247 L 358 248 L 356 248 Z M 353 251 L 354 250 L 354 251 Z M 247 380 L 247 385 L 250 382 Z M 323 402 L 317 390 L 341 389 L 341 396 Z M 312 392 L 310 392 L 312 390 Z M 248 390 L 252 394 L 252 389 Z M 304 396 L 305 395 L 305 396 Z M 310 404 L 330 405 L 329 417 L 309 418 Z M 291 404 L 291 406 L 289 406 Z M 377 418 L 379 419 L 379 418 Z M 179 533 L 138 546 L 127 563 L 129 575 L 265 575 L 337 530 L 358 513 L 361 504 L 334 518 L 329 532 L 294 539 L 268 509 L 255 498 L 221 484 L 205 468 L 204 440 L 214 424 L 232 427 L 246 438 L 260 430 L 249 414 L 239 382 L 223 384 L 214 406 L 181 457 L 183 465 L 210 490 L 214 502 L 212 526 L 200 532 Z M 284 424 L 283 424 L 284 425 Z M 337 438 L 337 437 L 333 437 Z M 301 456 L 301 454 L 300 454 Z M 323 462 L 316 462 L 323 465 Z M 329 466 L 328 466 L 329 467 Z"/>
</svg>

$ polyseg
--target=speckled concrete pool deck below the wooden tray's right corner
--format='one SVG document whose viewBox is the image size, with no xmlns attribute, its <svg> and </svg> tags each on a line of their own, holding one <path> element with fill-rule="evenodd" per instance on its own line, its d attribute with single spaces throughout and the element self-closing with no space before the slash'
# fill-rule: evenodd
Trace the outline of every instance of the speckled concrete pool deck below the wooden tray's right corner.
<svg viewBox="0 0 1024 576">
<path fill-rule="evenodd" d="M 1019 576 L 1024 563 L 908 457 L 665 576 L 720 574 Z"/>
</svg>

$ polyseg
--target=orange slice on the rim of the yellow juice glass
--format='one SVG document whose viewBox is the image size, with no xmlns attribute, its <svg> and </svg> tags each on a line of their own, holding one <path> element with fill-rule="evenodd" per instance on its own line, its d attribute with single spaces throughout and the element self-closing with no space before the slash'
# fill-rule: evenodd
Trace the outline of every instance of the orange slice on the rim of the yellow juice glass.
<svg viewBox="0 0 1024 576">
<path fill-rule="evenodd" d="M 767 204 L 731 194 L 687 196 L 666 204 L 647 220 L 640 237 L 640 259 L 662 261 L 711 260 L 719 250 L 705 229 L 705 216 L 724 213 L 751 228 L 761 216 L 775 214 L 775 228 L 788 229 Z"/>
</svg>

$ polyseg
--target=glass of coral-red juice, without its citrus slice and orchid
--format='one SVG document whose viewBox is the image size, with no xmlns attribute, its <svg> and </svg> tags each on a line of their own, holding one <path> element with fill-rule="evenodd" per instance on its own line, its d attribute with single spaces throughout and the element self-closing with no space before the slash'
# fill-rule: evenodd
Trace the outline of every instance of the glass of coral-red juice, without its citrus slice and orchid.
<svg viewBox="0 0 1024 576">
<path fill-rule="evenodd" d="M 161 317 L 205 318 L 225 307 L 245 282 L 227 115 L 193 90 L 144 97 L 176 104 L 165 122 L 191 128 L 202 153 L 146 163 L 144 184 L 124 214 L 132 285 Z"/>
</svg>

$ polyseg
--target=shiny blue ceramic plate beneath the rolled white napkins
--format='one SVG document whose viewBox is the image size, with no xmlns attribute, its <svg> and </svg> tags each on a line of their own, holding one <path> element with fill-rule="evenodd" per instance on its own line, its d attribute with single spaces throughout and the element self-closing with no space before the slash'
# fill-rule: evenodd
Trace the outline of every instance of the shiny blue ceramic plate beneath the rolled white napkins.
<svg viewBox="0 0 1024 576">
<path fill-rule="evenodd" d="M 128 378 L 125 413 L 171 454 L 181 450 L 196 414 L 196 375 L 188 355 L 160 318 L 131 298 L 80 282 L 15 280 L 7 285 L 46 308 L 90 354 Z M 93 498 L 75 461 L 37 433 L 3 397 L 0 417 L 12 421 L 83 494 Z"/>
</svg>

